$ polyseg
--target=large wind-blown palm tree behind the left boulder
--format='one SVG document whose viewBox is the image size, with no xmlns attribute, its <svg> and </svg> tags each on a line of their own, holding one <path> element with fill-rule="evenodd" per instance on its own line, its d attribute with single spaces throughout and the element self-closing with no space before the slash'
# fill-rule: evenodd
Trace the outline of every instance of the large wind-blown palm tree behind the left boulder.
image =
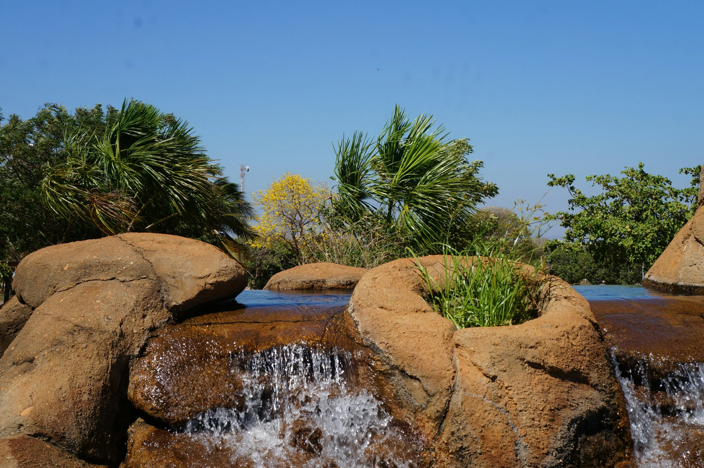
<svg viewBox="0 0 704 468">
<path fill-rule="evenodd" d="M 144 231 L 191 237 L 253 235 L 253 212 L 213 164 L 188 122 L 134 99 L 103 135 L 66 133 L 63 163 L 47 166 L 44 203 L 58 216 L 105 234 Z"/>
</svg>

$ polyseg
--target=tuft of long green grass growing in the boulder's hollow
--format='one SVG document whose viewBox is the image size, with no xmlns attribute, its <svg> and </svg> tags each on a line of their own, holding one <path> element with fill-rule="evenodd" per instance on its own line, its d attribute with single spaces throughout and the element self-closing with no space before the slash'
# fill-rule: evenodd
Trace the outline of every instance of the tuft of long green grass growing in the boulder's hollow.
<svg viewBox="0 0 704 468">
<path fill-rule="evenodd" d="M 438 281 L 416 265 L 427 288 L 426 300 L 455 327 L 502 327 L 537 317 L 543 282 L 503 253 L 470 256 L 446 251 L 444 278 Z"/>
</svg>

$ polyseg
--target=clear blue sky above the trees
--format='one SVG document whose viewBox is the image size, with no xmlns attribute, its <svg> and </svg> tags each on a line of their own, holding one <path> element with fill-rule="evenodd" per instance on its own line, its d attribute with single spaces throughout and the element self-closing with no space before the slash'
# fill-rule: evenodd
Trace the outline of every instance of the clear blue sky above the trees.
<svg viewBox="0 0 704 468">
<path fill-rule="evenodd" d="M 331 141 L 395 103 L 472 139 L 494 205 L 639 160 L 684 186 L 704 160 L 702 2 L 3 0 L 0 31 L 4 115 L 134 97 L 189 120 L 232 179 L 251 166 L 247 191 L 328 180 Z"/>
</svg>

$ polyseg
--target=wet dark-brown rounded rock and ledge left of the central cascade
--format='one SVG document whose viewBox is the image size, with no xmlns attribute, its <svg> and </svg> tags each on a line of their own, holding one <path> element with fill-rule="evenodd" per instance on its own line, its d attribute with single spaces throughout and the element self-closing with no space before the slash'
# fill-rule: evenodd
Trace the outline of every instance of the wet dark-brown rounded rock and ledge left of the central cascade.
<svg viewBox="0 0 704 468">
<path fill-rule="evenodd" d="M 344 308 L 246 308 L 167 325 L 130 370 L 130 401 L 170 426 L 200 412 L 244 403 L 233 356 L 294 342 L 320 343 Z M 207 382 L 207 391 L 194 391 Z"/>
</svg>

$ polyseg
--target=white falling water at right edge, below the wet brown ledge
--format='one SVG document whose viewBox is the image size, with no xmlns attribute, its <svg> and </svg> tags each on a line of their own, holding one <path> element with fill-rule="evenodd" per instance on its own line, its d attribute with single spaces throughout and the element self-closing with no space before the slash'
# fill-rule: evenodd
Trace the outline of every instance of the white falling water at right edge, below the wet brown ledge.
<svg viewBox="0 0 704 468">
<path fill-rule="evenodd" d="M 667 376 L 653 378 L 653 356 L 643 355 L 622 372 L 616 354 L 612 349 L 638 466 L 704 467 L 704 363 L 678 363 Z"/>
</svg>

